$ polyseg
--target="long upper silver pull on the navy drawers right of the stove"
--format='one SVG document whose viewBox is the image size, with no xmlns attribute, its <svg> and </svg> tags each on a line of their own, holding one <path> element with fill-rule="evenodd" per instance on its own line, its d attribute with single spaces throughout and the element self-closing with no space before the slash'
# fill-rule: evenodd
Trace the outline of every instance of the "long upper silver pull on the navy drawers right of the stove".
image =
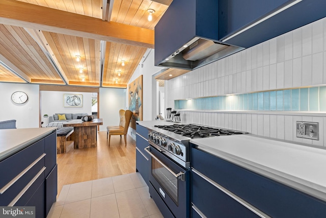
<svg viewBox="0 0 326 218">
<path fill-rule="evenodd" d="M 249 209 L 252 212 L 256 213 L 258 216 L 264 217 L 264 218 L 270 217 L 267 214 L 265 214 L 264 212 L 260 211 L 255 206 L 251 205 L 250 203 L 248 203 L 248 202 L 244 201 L 243 199 L 241 199 L 240 197 L 236 196 L 234 193 L 232 193 L 231 191 L 229 191 L 228 189 L 226 189 L 222 185 L 220 185 L 220 184 L 216 183 L 215 181 L 209 179 L 208 177 L 206 177 L 205 175 L 203 175 L 202 173 L 200 173 L 196 169 L 192 168 L 192 172 L 195 173 L 195 174 L 197 174 L 198 176 L 200 176 L 202 179 L 206 180 L 207 182 L 209 182 L 214 187 L 220 189 L 226 195 L 228 195 L 229 197 L 233 198 L 235 201 L 239 202 L 240 204 L 242 204 L 247 209 Z"/>
</svg>

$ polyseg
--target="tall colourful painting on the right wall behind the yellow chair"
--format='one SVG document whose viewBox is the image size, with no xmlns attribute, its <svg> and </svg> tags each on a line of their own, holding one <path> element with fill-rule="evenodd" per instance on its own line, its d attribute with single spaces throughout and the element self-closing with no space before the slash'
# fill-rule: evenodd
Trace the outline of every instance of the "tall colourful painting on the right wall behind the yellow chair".
<svg viewBox="0 0 326 218">
<path fill-rule="evenodd" d="M 136 121 L 143 120 L 143 75 L 128 84 L 129 110 L 133 112 L 130 127 L 136 129 Z"/>
</svg>

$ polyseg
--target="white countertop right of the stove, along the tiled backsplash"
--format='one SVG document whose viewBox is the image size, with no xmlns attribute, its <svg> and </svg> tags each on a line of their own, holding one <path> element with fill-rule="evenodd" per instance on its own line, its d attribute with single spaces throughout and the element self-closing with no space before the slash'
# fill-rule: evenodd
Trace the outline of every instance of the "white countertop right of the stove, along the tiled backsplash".
<svg viewBox="0 0 326 218">
<path fill-rule="evenodd" d="M 200 150 L 326 201 L 324 149 L 253 135 L 217 136 L 190 142 Z"/>
</svg>

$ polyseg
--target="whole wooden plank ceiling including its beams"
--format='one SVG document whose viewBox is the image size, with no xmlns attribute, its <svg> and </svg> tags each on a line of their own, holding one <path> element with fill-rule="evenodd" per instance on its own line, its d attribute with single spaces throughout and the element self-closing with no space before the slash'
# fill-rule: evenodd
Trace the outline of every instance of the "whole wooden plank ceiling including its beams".
<svg viewBox="0 0 326 218">
<path fill-rule="evenodd" d="M 171 2 L 1 0 L 0 81 L 125 88 Z"/>
</svg>

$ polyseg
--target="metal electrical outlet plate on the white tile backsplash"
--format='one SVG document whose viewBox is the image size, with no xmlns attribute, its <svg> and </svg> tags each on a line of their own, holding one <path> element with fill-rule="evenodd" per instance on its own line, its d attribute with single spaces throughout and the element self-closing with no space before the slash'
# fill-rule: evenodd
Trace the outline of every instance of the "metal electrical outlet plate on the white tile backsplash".
<svg viewBox="0 0 326 218">
<path fill-rule="evenodd" d="M 296 137 L 319 140 L 319 123 L 297 121 Z"/>
</svg>

